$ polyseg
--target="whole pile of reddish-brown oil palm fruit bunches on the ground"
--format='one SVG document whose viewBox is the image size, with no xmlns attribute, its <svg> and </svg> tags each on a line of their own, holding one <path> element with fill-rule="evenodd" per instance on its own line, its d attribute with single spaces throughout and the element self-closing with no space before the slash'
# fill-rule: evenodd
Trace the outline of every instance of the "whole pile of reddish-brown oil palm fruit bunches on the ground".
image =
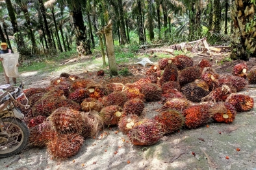
<svg viewBox="0 0 256 170">
<path fill-rule="evenodd" d="M 256 83 L 256 71 L 247 70 L 241 63 L 233 74 L 220 75 L 206 59 L 194 63 L 179 55 L 160 59 L 134 83 L 103 85 L 62 73 L 49 87 L 25 90 L 31 107 L 20 109 L 31 128 L 31 145 L 47 147 L 54 158 L 77 154 L 83 141 L 104 126 L 118 126 L 134 145 L 153 145 L 164 134 L 231 123 L 237 112 L 250 111 L 253 98 L 236 93 Z M 161 103 L 161 109 L 144 118 L 151 102 Z"/>
</svg>

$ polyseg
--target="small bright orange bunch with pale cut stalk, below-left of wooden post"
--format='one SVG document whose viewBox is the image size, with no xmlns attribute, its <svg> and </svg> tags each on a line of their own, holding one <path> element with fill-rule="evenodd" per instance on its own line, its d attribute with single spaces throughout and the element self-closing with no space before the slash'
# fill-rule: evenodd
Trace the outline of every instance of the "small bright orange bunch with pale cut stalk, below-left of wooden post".
<svg viewBox="0 0 256 170">
<path fill-rule="evenodd" d="M 107 94 L 107 89 L 100 84 L 90 84 L 87 89 L 90 92 L 90 98 L 95 98 L 96 100 Z"/>
</svg>

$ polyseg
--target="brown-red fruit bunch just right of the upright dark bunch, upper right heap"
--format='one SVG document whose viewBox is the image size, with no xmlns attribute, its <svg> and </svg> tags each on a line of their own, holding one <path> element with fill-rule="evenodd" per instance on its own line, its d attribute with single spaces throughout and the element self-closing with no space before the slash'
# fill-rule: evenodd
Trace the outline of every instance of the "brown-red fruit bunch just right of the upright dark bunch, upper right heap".
<svg viewBox="0 0 256 170">
<path fill-rule="evenodd" d="M 200 78 L 201 72 L 199 67 L 187 67 L 184 70 L 181 70 L 178 80 L 180 85 L 185 85 L 190 83 L 198 78 Z"/>
</svg>

